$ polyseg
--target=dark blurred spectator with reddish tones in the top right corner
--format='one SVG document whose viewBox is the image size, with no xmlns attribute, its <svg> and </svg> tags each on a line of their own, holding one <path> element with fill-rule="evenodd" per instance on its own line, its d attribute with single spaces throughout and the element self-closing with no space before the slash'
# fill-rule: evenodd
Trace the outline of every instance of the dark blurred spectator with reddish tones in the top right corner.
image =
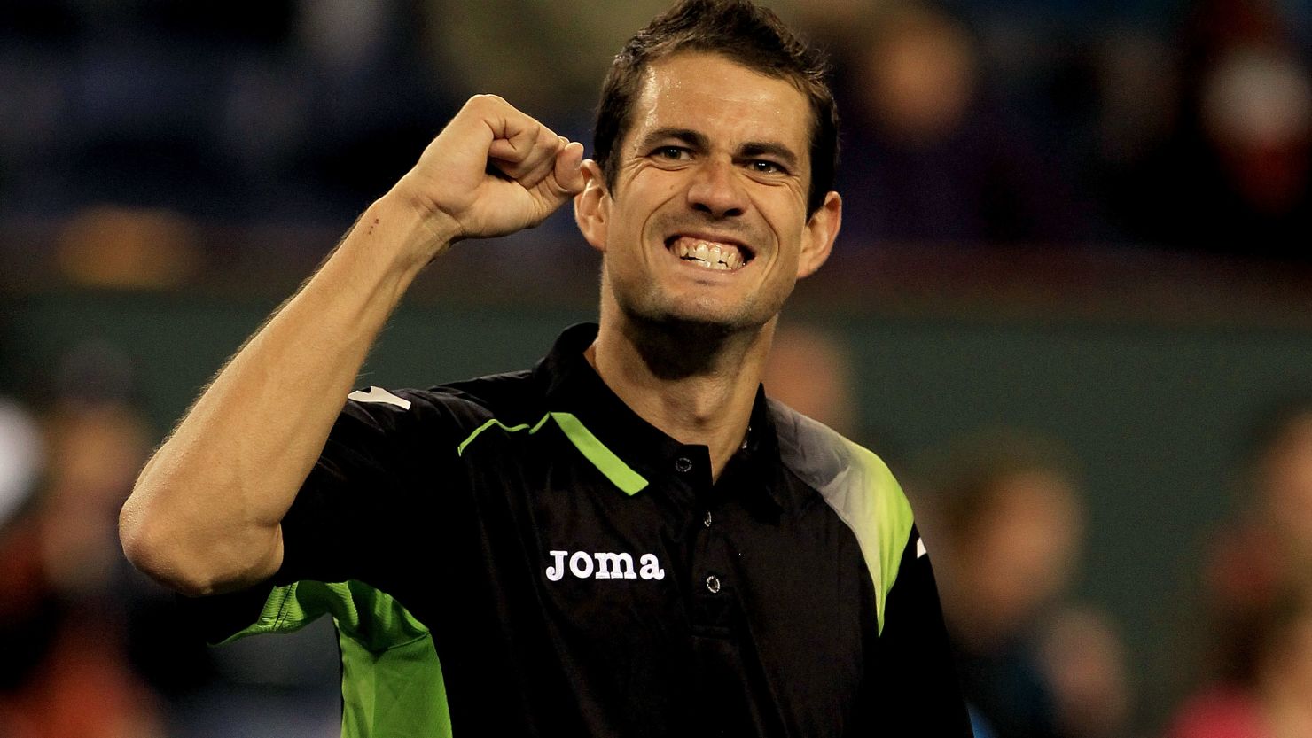
<svg viewBox="0 0 1312 738">
<path fill-rule="evenodd" d="M 1174 126 L 1113 182 L 1120 223 L 1176 248 L 1305 258 L 1312 76 L 1283 8 L 1200 0 L 1179 73 Z"/>
</svg>

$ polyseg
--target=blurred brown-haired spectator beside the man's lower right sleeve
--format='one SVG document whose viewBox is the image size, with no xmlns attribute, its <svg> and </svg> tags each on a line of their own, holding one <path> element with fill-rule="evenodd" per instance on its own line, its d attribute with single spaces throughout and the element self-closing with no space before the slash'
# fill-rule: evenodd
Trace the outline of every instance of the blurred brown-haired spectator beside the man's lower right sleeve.
<svg viewBox="0 0 1312 738">
<path fill-rule="evenodd" d="M 996 434 L 956 448 L 933 530 L 962 687 L 997 738 L 1119 735 L 1128 691 L 1109 620 L 1072 607 L 1084 505 L 1059 444 Z"/>
</svg>

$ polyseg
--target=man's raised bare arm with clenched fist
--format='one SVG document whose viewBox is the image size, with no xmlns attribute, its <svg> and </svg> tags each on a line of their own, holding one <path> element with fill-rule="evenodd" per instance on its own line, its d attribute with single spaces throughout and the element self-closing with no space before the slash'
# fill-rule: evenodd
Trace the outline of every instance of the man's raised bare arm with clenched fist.
<svg viewBox="0 0 1312 738">
<path fill-rule="evenodd" d="M 127 558 L 190 595 L 277 572 L 279 520 L 407 287 L 458 240 L 542 222 L 583 187 L 581 159 L 504 100 L 471 98 L 142 469 L 119 515 Z"/>
</svg>

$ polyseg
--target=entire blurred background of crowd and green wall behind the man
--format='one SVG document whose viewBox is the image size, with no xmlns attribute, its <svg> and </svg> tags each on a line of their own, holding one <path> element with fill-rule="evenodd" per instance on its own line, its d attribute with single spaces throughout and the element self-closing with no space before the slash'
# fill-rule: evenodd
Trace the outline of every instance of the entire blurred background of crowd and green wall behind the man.
<svg viewBox="0 0 1312 738">
<path fill-rule="evenodd" d="M 1312 738 L 1312 0 L 768 4 L 846 207 L 766 385 L 903 480 L 980 735 Z M 117 510 L 467 96 L 589 142 L 664 5 L 0 4 L 0 737 L 337 734 L 331 624 L 201 646 Z M 527 366 L 596 274 L 461 244 L 361 384 Z"/>
</svg>

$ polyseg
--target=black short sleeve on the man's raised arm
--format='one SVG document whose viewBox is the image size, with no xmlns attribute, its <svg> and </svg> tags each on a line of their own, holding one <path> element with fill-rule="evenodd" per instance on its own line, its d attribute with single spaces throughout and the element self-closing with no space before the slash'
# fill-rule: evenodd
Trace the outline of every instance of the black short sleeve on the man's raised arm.
<svg viewBox="0 0 1312 738">
<path fill-rule="evenodd" d="M 453 468 L 457 426 L 422 393 L 353 392 L 282 519 L 278 572 L 244 591 L 182 598 L 184 617 L 216 642 L 265 619 L 272 595 L 299 582 L 362 582 L 401 596 L 422 581 L 416 547 L 437 493 L 458 494 L 462 484 Z M 299 625 L 323 612 L 307 610 Z"/>
</svg>

